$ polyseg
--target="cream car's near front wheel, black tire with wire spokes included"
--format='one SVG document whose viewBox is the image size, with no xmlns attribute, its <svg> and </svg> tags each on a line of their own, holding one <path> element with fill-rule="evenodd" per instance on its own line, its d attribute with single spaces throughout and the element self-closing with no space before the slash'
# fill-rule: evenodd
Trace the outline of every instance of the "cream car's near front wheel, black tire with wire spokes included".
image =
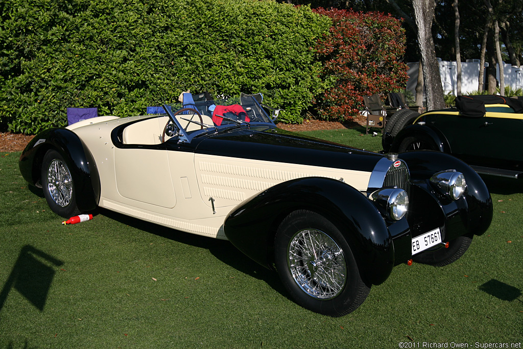
<svg viewBox="0 0 523 349">
<path fill-rule="evenodd" d="M 294 211 L 281 222 L 275 258 L 283 285 L 306 309 L 340 317 L 369 295 L 342 233 L 315 212 Z"/>
</svg>

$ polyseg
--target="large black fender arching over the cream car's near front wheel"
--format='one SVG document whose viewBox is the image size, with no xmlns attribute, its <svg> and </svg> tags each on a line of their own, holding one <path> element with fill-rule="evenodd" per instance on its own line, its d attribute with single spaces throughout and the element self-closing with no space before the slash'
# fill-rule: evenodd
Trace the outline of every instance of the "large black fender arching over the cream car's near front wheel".
<svg viewBox="0 0 523 349">
<path fill-rule="evenodd" d="M 276 230 L 299 209 L 315 211 L 338 227 L 367 283 L 381 284 L 390 275 L 394 247 L 385 221 L 366 196 L 336 179 L 299 178 L 265 190 L 230 213 L 225 235 L 254 261 L 271 267 Z"/>
</svg>

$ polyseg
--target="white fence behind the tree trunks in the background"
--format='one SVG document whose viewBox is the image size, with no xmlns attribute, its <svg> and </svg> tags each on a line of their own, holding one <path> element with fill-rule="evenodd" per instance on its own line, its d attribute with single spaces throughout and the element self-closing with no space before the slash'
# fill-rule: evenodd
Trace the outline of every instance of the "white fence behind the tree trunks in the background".
<svg viewBox="0 0 523 349">
<path fill-rule="evenodd" d="M 456 81 L 457 81 L 457 65 L 456 62 L 448 62 L 439 60 L 439 73 L 441 76 L 441 84 L 443 85 L 444 94 L 452 94 L 456 96 Z M 407 89 L 414 95 L 416 94 L 416 84 L 418 78 L 419 63 L 407 63 L 408 65 L 408 81 Z M 485 63 L 483 69 L 488 66 Z M 513 89 L 523 88 L 523 65 L 512 66 L 510 64 L 504 64 L 505 86 L 510 86 Z M 497 66 L 497 81 L 499 81 L 499 66 Z M 467 60 L 467 62 L 461 63 L 461 93 L 467 94 L 473 91 L 477 91 L 477 78 L 480 74 L 480 60 Z M 483 74 L 483 89 L 485 89 L 485 74 Z"/>
</svg>

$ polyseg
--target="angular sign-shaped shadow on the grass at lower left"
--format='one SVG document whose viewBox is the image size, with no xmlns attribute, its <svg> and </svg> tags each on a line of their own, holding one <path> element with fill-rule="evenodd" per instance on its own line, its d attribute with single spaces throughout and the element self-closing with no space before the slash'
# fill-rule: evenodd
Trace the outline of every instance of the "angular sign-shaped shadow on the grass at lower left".
<svg viewBox="0 0 523 349">
<path fill-rule="evenodd" d="M 62 264 L 62 261 L 33 246 L 22 247 L 7 282 L 0 291 L 0 311 L 12 288 L 20 292 L 38 310 L 43 311 L 54 269 Z"/>
</svg>

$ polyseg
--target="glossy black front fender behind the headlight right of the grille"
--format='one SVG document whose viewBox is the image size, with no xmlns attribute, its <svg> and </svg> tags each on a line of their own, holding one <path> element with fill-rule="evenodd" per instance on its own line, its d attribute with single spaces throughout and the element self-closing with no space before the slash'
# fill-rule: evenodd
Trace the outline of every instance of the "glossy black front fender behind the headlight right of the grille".
<svg viewBox="0 0 523 349">
<path fill-rule="evenodd" d="M 434 202 L 439 202 L 445 212 L 447 241 L 460 235 L 481 235 L 490 227 L 493 216 L 491 195 L 483 179 L 469 165 L 452 155 L 437 151 L 405 152 L 399 154 L 399 158 L 408 165 L 413 189 L 418 187 L 418 190 L 413 190 L 419 194 L 416 195 L 416 201 L 424 205 L 424 202 L 426 204 L 430 200 L 429 197 L 433 197 Z M 442 170 L 456 170 L 465 176 L 467 190 L 457 201 L 440 194 L 429 183 L 430 177 Z M 425 199 L 421 199 L 422 196 Z M 418 209 L 421 210 L 422 206 Z M 412 221 L 411 228 L 415 230 Z"/>
</svg>

